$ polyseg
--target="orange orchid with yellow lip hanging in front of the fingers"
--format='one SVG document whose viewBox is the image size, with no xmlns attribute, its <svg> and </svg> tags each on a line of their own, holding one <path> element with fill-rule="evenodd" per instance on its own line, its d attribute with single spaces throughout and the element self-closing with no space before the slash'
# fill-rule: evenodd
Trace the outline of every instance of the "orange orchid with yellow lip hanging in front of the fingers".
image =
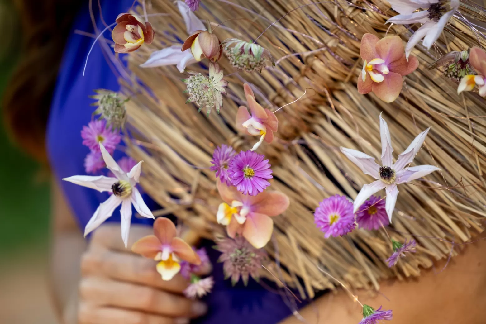
<svg viewBox="0 0 486 324">
<path fill-rule="evenodd" d="M 143 237 L 132 245 L 132 251 L 159 261 L 157 272 L 162 280 L 171 280 L 180 269 L 180 260 L 199 265 L 201 259 L 183 239 L 176 238 L 175 225 L 169 219 L 159 217 L 154 222 L 154 234 Z"/>
</svg>

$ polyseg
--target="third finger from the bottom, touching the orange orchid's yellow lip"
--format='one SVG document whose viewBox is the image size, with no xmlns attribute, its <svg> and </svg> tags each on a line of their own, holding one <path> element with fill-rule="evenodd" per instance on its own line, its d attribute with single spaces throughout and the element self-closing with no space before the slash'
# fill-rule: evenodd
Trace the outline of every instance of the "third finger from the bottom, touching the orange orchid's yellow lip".
<svg viewBox="0 0 486 324">
<path fill-rule="evenodd" d="M 81 259 L 81 272 L 83 276 L 99 275 L 180 294 L 189 284 L 180 274 L 175 275 L 172 280 L 162 280 L 156 271 L 154 260 L 106 250 L 84 254 Z"/>
</svg>

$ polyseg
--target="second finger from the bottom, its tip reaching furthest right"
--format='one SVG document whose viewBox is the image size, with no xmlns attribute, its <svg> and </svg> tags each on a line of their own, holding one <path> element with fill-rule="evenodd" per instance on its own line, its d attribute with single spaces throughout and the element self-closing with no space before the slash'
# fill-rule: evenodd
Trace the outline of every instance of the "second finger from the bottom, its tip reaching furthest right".
<svg viewBox="0 0 486 324">
<path fill-rule="evenodd" d="M 169 317 L 195 318 L 206 313 L 207 306 L 179 295 L 147 286 L 108 278 L 88 277 L 81 281 L 80 295 L 100 306 L 129 308 Z"/>
</svg>

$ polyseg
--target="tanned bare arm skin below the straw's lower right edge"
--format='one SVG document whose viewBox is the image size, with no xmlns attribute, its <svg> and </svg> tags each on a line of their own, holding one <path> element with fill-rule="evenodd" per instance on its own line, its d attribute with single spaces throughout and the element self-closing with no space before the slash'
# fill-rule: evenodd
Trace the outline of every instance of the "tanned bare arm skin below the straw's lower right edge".
<svg viewBox="0 0 486 324">
<path fill-rule="evenodd" d="M 480 236 L 478 239 L 486 237 Z M 486 317 L 486 239 L 463 245 L 459 256 L 436 262 L 419 278 L 381 282 L 382 295 L 354 292 L 363 304 L 393 310 L 392 324 L 480 324 Z M 439 273 L 440 272 L 440 273 Z M 386 298 L 385 298 L 386 296 Z M 388 299 L 388 300 L 387 300 Z M 299 313 L 310 324 L 358 324 L 362 308 L 344 291 L 329 293 Z M 281 324 L 302 324 L 291 316 Z"/>
</svg>

